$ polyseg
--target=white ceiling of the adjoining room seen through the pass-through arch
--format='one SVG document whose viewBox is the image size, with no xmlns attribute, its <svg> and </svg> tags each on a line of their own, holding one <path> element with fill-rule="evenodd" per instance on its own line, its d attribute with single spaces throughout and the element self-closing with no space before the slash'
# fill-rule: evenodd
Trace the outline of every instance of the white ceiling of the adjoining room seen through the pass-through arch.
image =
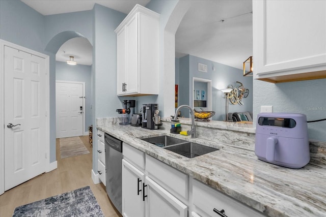
<svg viewBox="0 0 326 217">
<path fill-rule="evenodd" d="M 252 1 L 194 2 L 175 36 L 176 57 L 191 54 L 242 69 L 253 54 Z"/>
</svg>

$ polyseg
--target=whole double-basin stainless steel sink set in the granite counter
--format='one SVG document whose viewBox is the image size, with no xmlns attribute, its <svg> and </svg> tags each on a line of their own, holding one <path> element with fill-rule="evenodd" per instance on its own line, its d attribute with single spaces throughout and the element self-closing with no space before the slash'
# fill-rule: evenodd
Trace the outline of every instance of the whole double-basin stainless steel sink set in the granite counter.
<svg viewBox="0 0 326 217">
<path fill-rule="evenodd" d="M 203 154 L 219 150 L 217 148 L 208 147 L 194 142 L 185 141 L 171 136 L 154 136 L 142 139 L 156 146 L 181 154 L 187 158 L 195 158 Z"/>
</svg>

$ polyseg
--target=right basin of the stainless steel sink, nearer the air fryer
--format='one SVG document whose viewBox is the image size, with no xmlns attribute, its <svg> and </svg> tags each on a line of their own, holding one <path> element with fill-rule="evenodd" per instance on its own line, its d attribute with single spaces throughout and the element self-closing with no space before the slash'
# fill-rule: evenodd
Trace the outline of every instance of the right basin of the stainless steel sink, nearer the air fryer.
<svg viewBox="0 0 326 217">
<path fill-rule="evenodd" d="M 183 144 L 173 145 L 173 146 L 165 147 L 165 149 L 181 154 L 182 156 L 187 158 L 195 158 L 197 156 L 201 156 L 203 154 L 219 150 L 217 148 L 197 144 L 194 142 L 187 142 Z"/>
</svg>

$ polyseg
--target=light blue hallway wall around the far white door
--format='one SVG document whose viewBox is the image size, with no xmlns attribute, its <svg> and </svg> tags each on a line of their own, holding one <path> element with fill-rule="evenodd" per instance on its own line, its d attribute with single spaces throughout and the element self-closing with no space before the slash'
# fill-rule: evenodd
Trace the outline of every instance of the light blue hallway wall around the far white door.
<svg viewBox="0 0 326 217">
<path fill-rule="evenodd" d="M 85 129 L 92 125 L 92 67 L 77 64 L 70 66 L 56 61 L 56 80 L 85 82 Z"/>
</svg>

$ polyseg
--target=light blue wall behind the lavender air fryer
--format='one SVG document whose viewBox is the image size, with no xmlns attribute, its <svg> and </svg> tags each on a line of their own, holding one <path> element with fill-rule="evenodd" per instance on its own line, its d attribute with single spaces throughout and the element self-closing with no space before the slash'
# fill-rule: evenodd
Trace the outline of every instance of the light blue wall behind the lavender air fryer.
<svg viewBox="0 0 326 217">
<path fill-rule="evenodd" d="M 302 113 L 307 120 L 326 118 L 326 79 L 268 83 L 254 80 L 254 123 L 260 106 L 271 105 L 273 112 Z M 326 121 L 308 123 L 310 140 L 326 142 Z"/>
</svg>

